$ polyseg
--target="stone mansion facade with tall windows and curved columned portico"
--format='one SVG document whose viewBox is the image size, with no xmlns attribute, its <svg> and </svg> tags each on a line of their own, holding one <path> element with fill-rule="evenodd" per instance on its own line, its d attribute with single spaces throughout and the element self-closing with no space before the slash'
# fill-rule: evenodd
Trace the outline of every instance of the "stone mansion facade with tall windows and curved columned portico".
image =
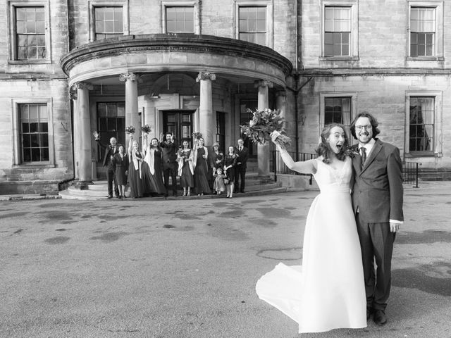
<svg viewBox="0 0 451 338">
<path fill-rule="evenodd" d="M 102 177 L 94 130 L 226 149 L 248 108 L 280 109 L 298 153 L 369 111 L 405 161 L 451 172 L 451 0 L 6 0 L 0 25 L 0 194 Z"/>
</svg>

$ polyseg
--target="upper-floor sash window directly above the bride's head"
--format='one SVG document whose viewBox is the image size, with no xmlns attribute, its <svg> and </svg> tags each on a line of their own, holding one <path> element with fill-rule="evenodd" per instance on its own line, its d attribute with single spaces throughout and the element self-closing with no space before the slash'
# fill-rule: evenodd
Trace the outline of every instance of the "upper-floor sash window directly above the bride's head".
<svg viewBox="0 0 451 338">
<path fill-rule="evenodd" d="M 324 8 L 324 56 L 350 56 L 351 8 Z"/>
</svg>

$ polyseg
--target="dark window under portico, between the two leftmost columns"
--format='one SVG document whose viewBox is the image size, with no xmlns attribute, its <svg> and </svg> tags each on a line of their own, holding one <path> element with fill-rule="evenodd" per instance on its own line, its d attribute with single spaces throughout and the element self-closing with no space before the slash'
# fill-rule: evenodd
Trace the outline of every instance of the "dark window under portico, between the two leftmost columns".
<svg viewBox="0 0 451 338">
<path fill-rule="evenodd" d="M 124 102 L 97 102 L 97 127 L 100 139 L 109 143 L 111 137 L 116 137 L 118 143 L 125 148 L 125 103 Z M 104 149 L 99 147 L 99 161 L 104 158 Z"/>
</svg>

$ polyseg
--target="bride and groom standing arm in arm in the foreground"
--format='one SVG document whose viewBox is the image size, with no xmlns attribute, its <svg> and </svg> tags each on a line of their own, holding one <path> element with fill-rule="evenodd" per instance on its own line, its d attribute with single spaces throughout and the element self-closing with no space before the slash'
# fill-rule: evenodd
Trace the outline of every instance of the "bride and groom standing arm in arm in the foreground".
<svg viewBox="0 0 451 338">
<path fill-rule="evenodd" d="M 378 121 L 362 112 L 345 127 L 326 125 L 318 157 L 295 162 L 271 139 L 285 165 L 319 185 L 304 230 L 302 265 L 278 263 L 256 285 L 260 299 L 295 320 L 299 333 L 385 325 L 395 235 L 403 223 L 400 150 L 376 137 Z"/>
</svg>

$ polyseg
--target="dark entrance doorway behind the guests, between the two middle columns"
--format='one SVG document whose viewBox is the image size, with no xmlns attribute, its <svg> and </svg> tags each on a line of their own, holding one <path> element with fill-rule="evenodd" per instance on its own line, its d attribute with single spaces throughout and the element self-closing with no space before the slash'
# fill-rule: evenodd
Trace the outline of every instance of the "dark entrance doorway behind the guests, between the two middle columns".
<svg viewBox="0 0 451 338">
<path fill-rule="evenodd" d="M 163 111 L 163 132 L 172 132 L 181 146 L 187 141 L 192 147 L 192 114 L 194 111 Z"/>
</svg>

